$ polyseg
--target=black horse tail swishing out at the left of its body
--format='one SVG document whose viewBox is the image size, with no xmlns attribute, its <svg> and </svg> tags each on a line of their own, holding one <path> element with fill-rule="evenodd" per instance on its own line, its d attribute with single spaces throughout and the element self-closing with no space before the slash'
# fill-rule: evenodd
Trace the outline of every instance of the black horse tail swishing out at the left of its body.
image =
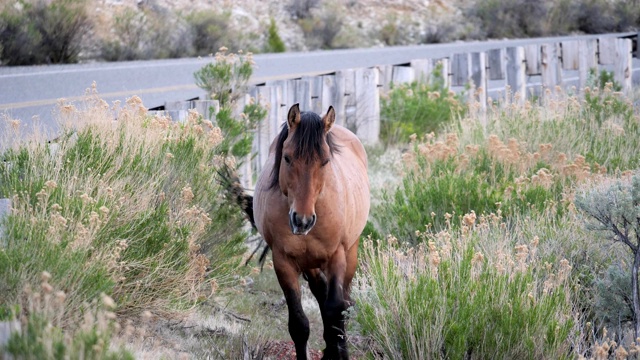
<svg viewBox="0 0 640 360">
<path fill-rule="evenodd" d="M 254 230 L 258 230 L 256 227 L 256 221 L 253 217 L 253 196 L 249 195 L 246 189 L 240 183 L 240 178 L 238 174 L 231 169 L 226 164 L 218 170 L 218 178 L 222 187 L 226 190 L 227 194 L 231 197 L 231 199 L 240 206 L 240 209 L 245 213 L 247 219 L 251 223 L 251 227 Z M 249 261 L 253 258 L 253 256 L 263 247 L 262 254 L 258 258 L 258 263 L 260 264 L 260 268 L 264 267 L 264 262 L 267 258 L 267 254 L 269 253 L 269 245 L 264 241 L 264 239 L 260 238 L 258 242 L 258 246 L 253 250 L 245 265 L 249 264 Z"/>
</svg>

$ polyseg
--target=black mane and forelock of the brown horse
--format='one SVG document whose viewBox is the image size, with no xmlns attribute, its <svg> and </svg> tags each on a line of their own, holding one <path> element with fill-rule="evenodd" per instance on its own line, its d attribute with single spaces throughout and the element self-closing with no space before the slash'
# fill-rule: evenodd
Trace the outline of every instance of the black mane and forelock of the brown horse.
<svg viewBox="0 0 640 360">
<path fill-rule="evenodd" d="M 280 165 L 282 163 L 282 146 L 284 141 L 289 136 L 289 127 L 287 124 L 282 125 L 282 130 L 278 135 L 276 143 L 276 158 L 271 170 L 271 182 L 269 183 L 269 189 L 275 189 L 280 184 Z M 303 111 L 300 113 L 300 124 L 296 131 L 293 133 L 291 141 L 296 145 L 296 153 L 294 158 L 296 160 L 302 160 L 305 163 L 310 163 L 316 159 L 324 159 L 327 157 L 324 148 L 322 147 L 323 141 L 329 145 L 329 151 L 331 155 L 338 153 L 339 146 L 334 141 L 333 134 L 329 131 L 325 136 L 324 123 L 320 116 L 314 112 Z"/>
</svg>

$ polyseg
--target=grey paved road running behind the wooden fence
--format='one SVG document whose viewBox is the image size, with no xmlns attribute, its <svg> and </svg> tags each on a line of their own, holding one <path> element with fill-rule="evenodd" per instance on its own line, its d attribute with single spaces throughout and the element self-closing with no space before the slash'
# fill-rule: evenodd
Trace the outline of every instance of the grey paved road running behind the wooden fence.
<svg viewBox="0 0 640 360">
<path fill-rule="evenodd" d="M 633 33 L 610 34 L 624 36 Z M 602 35 L 600 35 L 602 36 Z M 582 39 L 598 36 L 582 36 Z M 453 53 L 486 51 L 506 46 L 522 46 L 575 40 L 575 37 L 496 40 L 472 43 L 432 44 L 387 48 L 348 49 L 307 53 L 259 54 L 253 83 L 294 78 L 335 70 L 402 64 L 413 59 L 441 58 Z M 0 113 L 21 119 L 28 125 L 35 116 L 46 127 L 55 128 L 52 111 L 57 99 L 76 100 L 96 82 L 101 96 L 111 102 L 132 95 L 142 98 L 147 107 L 165 101 L 202 97 L 194 85 L 193 73 L 210 61 L 207 58 L 0 67 Z M 0 127 L 0 131 L 2 128 Z"/>
</svg>

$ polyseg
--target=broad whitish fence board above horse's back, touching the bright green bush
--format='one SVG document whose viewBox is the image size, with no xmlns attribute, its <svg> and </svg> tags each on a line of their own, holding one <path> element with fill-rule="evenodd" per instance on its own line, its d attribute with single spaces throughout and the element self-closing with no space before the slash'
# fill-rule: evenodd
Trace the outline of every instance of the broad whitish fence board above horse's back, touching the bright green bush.
<svg viewBox="0 0 640 360">
<path fill-rule="evenodd" d="M 356 135 L 366 144 L 375 144 L 380 136 L 379 73 L 376 68 L 355 71 Z"/>
</svg>

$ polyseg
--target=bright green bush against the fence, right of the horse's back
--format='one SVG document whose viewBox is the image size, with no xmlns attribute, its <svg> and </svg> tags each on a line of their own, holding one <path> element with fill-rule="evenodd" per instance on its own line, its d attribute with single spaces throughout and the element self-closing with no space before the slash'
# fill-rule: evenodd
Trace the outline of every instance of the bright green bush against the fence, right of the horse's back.
<svg viewBox="0 0 640 360">
<path fill-rule="evenodd" d="M 412 134 L 438 132 L 464 115 L 460 97 L 444 86 L 441 65 L 427 83 L 392 86 L 380 104 L 380 139 L 385 145 L 406 142 Z"/>
</svg>

